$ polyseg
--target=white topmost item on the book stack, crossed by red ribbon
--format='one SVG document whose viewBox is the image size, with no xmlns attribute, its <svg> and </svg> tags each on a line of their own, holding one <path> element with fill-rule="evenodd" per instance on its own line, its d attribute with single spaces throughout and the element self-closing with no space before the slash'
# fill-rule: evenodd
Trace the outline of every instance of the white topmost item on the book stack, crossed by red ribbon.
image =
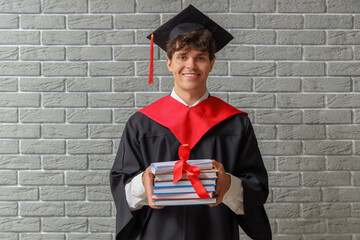
<svg viewBox="0 0 360 240">
<path fill-rule="evenodd" d="M 157 162 L 151 164 L 151 172 L 153 174 L 159 173 L 172 173 L 174 171 L 174 166 L 177 161 L 166 161 L 166 162 Z M 199 159 L 199 160 L 187 160 L 187 164 L 197 166 L 200 170 L 212 169 L 213 165 L 211 159 Z"/>
</svg>

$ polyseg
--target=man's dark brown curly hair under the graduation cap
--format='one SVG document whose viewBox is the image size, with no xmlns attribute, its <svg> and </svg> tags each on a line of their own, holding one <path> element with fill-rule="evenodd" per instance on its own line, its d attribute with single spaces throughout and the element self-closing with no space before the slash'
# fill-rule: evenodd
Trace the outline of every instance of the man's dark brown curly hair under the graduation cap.
<svg viewBox="0 0 360 240">
<path fill-rule="evenodd" d="M 215 58 L 216 45 L 212 33 L 207 29 L 195 30 L 177 36 L 166 44 L 166 53 L 172 59 L 174 52 L 181 49 L 194 48 L 201 52 L 208 52 L 210 61 Z"/>
</svg>

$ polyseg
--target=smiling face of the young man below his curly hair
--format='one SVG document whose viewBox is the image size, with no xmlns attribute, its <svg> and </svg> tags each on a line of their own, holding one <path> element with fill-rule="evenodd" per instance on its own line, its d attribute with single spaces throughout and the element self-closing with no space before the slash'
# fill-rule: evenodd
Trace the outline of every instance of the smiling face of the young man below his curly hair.
<svg viewBox="0 0 360 240">
<path fill-rule="evenodd" d="M 206 80 L 214 63 L 215 59 L 210 60 L 208 52 L 194 48 L 175 51 L 171 59 L 166 59 L 167 67 L 174 76 L 175 92 L 204 94 Z"/>
</svg>

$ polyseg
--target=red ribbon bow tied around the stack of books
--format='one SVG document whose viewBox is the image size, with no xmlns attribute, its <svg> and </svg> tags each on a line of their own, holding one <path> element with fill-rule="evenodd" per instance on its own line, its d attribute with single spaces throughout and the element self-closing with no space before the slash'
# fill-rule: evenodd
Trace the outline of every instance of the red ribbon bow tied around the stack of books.
<svg viewBox="0 0 360 240">
<path fill-rule="evenodd" d="M 206 192 L 206 189 L 201 184 L 199 178 L 197 177 L 200 174 L 200 168 L 197 166 L 188 165 L 186 161 L 189 159 L 190 155 L 190 146 L 189 144 L 183 144 L 179 147 L 179 158 L 180 160 L 175 163 L 174 166 L 174 179 L 173 183 L 179 181 L 182 177 L 182 174 L 185 173 L 191 185 L 194 187 L 197 195 L 200 198 L 210 198 L 209 194 Z"/>
</svg>

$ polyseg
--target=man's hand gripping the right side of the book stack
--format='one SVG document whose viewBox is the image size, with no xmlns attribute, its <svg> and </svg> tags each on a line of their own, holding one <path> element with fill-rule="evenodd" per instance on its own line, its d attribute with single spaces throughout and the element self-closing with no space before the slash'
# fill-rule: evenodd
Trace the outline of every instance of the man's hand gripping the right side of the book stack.
<svg viewBox="0 0 360 240">
<path fill-rule="evenodd" d="M 231 184 L 231 177 L 225 172 L 224 166 L 221 163 L 212 160 L 212 164 L 215 169 L 218 170 L 218 178 L 215 187 L 216 203 L 210 204 L 210 207 L 215 207 L 222 202 L 225 193 L 229 190 Z"/>
</svg>

